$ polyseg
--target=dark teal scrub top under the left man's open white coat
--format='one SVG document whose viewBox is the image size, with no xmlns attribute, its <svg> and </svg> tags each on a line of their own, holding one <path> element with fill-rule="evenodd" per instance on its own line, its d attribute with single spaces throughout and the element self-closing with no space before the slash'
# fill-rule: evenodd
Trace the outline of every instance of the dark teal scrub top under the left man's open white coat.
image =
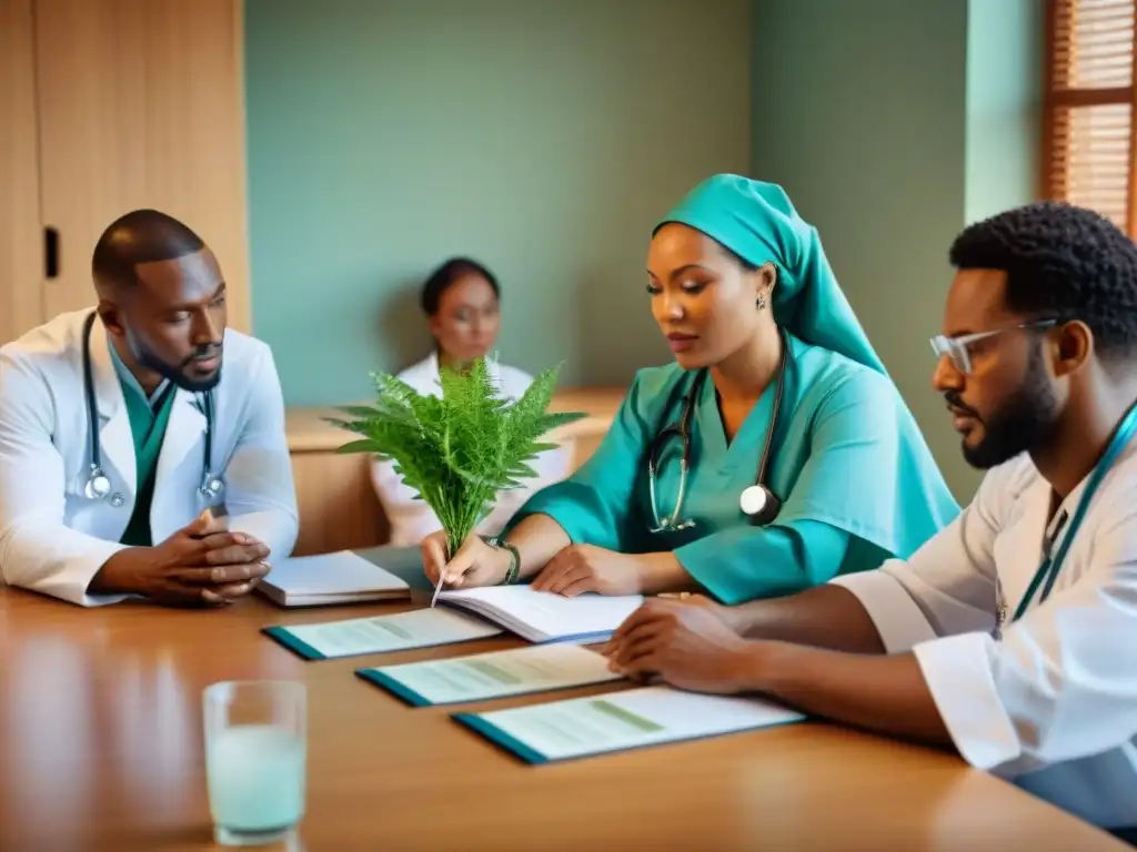
<svg viewBox="0 0 1137 852">
<path fill-rule="evenodd" d="M 110 360 L 118 374 L 118 383 L 123 387 L 126 416 L 131 421 L 138 483 L 134 511 L 131 512 L 131 519 L 118 543 L 131 548 L 150 548 L 153 545 L 150 533 L 150 506 L 153 502 L 158 457 L 161 454 L 169 411 L 174 404 L 174 385 L 169 379 L 165 379 L 150 396 L 147 396 L 142 385 L 123 364 L 109 341 L 107 345 L 110 348 Z"/>
</svg>

